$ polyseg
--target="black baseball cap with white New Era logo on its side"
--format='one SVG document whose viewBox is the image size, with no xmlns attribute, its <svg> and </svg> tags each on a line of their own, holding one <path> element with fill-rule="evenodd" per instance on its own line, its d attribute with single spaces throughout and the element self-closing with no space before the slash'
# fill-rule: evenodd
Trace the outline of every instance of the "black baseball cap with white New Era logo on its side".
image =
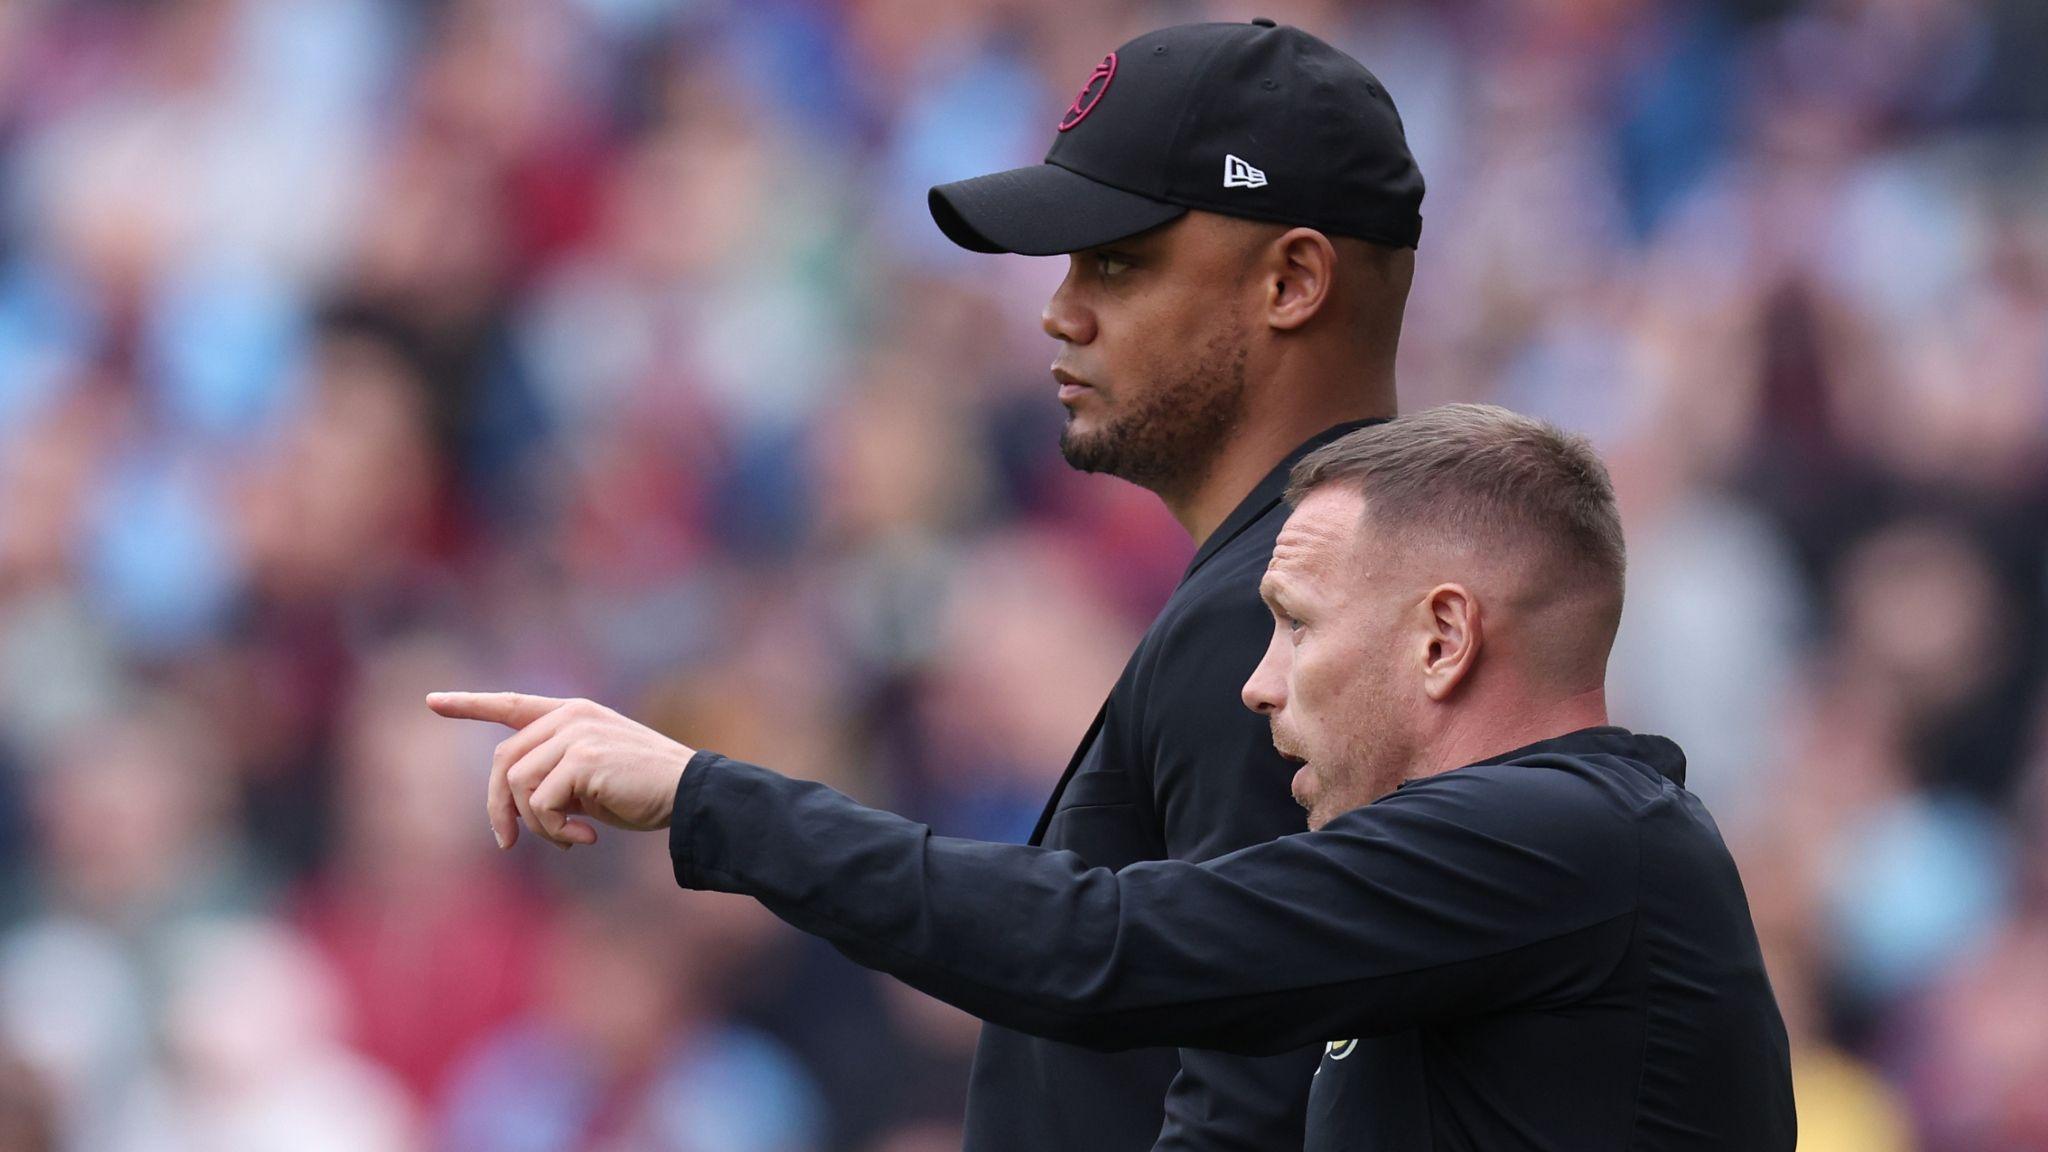
<svg viewBox="0 0 2048 1152">
<path fill-rule="evenodd" d="M 938 184 L 961 248 L 1053 256 L 1219 211 L 1413 248 L 1421 172 L 1366 66 L 1257 18 L 1176 25 L 1102 57 L 1044 164 Z"/>
</svg>

